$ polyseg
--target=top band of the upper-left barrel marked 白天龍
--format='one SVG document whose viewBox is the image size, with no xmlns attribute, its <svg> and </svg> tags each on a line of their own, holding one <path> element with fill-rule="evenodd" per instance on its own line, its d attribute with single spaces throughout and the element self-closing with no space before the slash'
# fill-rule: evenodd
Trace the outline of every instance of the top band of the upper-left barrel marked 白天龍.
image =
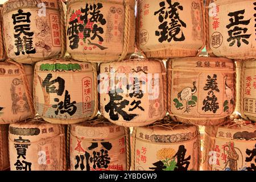
<svg viewBox="0 0 256 182">
<path fill-rule="evenodd" d="M 51 9 L 59 9 L 59 0 L 9 0 L 3 4 L 3 13 L 7 13 L 8 11 L 13 11 L 17 9 L 25 9 L 25 8 L 36 8 L 40 9 L 42 6 L 38 5 L 40 3 L 44 3 L 47 8 Z"/>
</svg>

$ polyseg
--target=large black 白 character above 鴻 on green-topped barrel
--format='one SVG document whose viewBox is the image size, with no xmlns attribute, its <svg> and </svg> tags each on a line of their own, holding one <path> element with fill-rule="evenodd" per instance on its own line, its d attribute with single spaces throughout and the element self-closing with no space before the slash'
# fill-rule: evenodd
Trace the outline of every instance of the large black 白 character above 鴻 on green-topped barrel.
<svg viewBox="0 0 256 182">
<path fill-rule="evenodd" d="M 61 77 L 57 77 L 55 80 L 50 81 L 52 78 L 52 73 L 49 73 L 43 81 L 43 87 L 46 87 L 47 93 L 57 93 L 58 96 L 62 96 L 65 89 L 65 80 Z M 53 85 L 56 82 L 59 83 L 59 88 L 56 89 L 56 86 Z M 51 86 L 53 85 L 53 86 Z"/>
</svg>

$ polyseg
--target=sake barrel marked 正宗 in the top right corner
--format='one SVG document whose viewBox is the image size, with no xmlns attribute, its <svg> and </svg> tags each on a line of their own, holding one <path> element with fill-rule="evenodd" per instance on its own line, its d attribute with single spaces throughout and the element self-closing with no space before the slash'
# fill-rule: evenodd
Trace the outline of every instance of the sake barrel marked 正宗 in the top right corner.
<svg viewBox="0 0 256 182">
<path fill-rule="evenodd" d="M 218 57 L 256 56 L 255 1 L 207 1 L 207 46 Z M 208 7 L 209 5 L 209 7 Z"/>
</svg>

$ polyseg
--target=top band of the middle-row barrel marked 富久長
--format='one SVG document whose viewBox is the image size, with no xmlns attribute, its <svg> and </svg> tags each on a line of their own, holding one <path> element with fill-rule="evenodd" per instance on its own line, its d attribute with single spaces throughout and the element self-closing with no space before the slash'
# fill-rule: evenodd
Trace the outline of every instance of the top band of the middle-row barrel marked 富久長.
<svg viewBox="0 0 256 182">
<path fill-rule="evenodd" d="M 102 63 L 100 72 L 106 73 L 106 69 L 116 73 L 163 73 L 166 72 L 163 63 L 156 59 L 130 59 L 124 61 L 116 61 L 112 63 Z"/>
</svg>

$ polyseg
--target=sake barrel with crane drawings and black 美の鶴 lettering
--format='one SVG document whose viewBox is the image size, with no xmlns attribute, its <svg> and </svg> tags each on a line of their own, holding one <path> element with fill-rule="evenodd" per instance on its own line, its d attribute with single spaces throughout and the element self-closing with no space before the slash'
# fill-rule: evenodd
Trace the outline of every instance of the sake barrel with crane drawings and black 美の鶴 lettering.
<svg viewBox="0 0 256 182">
<path fill-rule="evenodd" d="M 236 107 L 232 60 L 186 57 L 168 61 L 168 112 L 194 125 L 220 125 Z"/>
</svg>

